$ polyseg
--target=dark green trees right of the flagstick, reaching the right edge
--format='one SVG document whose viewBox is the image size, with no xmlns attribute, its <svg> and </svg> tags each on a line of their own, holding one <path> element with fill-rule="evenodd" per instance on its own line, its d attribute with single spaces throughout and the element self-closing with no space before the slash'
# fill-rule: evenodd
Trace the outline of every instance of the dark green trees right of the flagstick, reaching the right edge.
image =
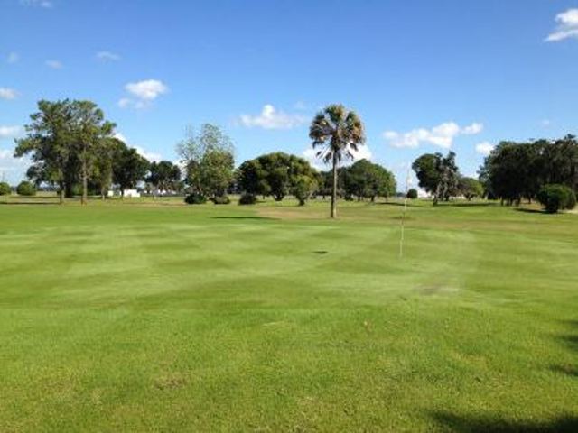
<svg viewBox="0 0 578 433">
<path fill-rule="evenodd" d="M 578 141 L 566 135 L 557 140 L 501 142 L 485 158 L 478 180 L 460 174 L 454 152 L 426 153 L 412 168 L 433 204 L 458 196 L 484 197 L 508 206 L 537 200 L 547 211 L 557 211 L 575 204 Z"/>
</svg>

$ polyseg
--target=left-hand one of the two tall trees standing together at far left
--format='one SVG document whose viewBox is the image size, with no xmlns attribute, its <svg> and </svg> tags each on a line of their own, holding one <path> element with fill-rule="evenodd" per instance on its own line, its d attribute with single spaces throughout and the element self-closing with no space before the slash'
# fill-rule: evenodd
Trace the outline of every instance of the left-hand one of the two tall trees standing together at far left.
<svg viewBox="0 0 578 433">
<path fill-rule="evenodd" d="M 61 204 L 67 185 L 67 169 L 73 154 L 72 114 L 68 99 L 56 102 L 41 100 L 38 111 L 25 126 L 26 136 L 16 140 L 15 157 L 30 154 L 33 165 L 28 176 L 38 185 L 42 182 L 59 188 Z"/>
</svg>

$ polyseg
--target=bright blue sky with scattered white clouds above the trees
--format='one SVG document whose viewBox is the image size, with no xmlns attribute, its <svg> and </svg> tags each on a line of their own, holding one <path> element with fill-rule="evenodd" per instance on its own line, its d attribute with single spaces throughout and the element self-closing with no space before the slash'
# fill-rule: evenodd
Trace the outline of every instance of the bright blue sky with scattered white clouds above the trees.
<svg viewBox="0 0 578 433">
<path fill-rule="evenodd" d="M 39 99 L 90 99 L 152 160 L 219 124 L 240 164 L 314 159 L 323 106 L 399 189 L 425 152 L 476 175 L 502 140 L 578 134 L 578 0 L 0 0 L 0 178 Z"/>
</svg>

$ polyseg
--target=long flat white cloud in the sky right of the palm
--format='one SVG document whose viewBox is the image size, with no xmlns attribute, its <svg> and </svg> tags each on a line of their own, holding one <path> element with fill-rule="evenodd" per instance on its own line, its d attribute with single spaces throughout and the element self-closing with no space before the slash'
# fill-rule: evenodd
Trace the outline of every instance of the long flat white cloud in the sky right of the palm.
<svg viewBox="0 0 578 433">
<path fill-rule="evenodd" d="M 383 137 L 393 147 L 419 147 L 421 143 L 431 143 L 444 149 L 452 147 L 453 140 L 459 135 L 480 134 L 483 124 L 473 123 L 461 127 L 455 122 L 446 122 L 434 126 L 432 129 L 417 128 L 407 133 L 397 133 L 396 131 L 386 131 Z"/>
</svg>

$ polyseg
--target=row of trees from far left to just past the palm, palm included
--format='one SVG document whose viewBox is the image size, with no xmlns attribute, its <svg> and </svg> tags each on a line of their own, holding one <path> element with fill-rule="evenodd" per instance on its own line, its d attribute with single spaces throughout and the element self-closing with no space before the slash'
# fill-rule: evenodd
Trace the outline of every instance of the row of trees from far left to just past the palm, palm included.
<svg viewBox="0 0 578 433">
<path fill-rule="evenodd" d="M 89 195 L 104 199 L 113 187 L 122 194 L 137 185 L 153 194 L 186 192 L 189 203 L 227 203 L 230 193 L 241 194 L 243 204 L 255 203 L 258 197 L 281 201 L 292 195 L 303 205 L 309 198 L 331 196 L 333 210 L 338 197 L 373 201 L 394 195 L 395 177 L 384 167 L 366 160 L 338 167 L 361 144 L 353 141 L 364 139 L 357 115 L 343 106 L 330 106 L 325 115 L 333 129 L 317 116 L 310 136 L 314 146 L 322 148 L 323 160 L 331 162 L 329 171 L 318 171 L 309 161 L 284 152 L 258 156 L 236 169 L 231 139 L 213 124 L 187 130 L 176 145 L 180 163 L 147 161 L 118 138 L 116 124 L 96 104 L 70 99 L 38 102 L 25 136 L 16 140 L 14 156 L 28 155 L 32 165 L 27 177 L 36 187 L 57 189 L 61 203 L 80 195 L 85 204 Z M 326 143 L 328 136 L 322 134 L 334 137 Z"/>
</svg>

